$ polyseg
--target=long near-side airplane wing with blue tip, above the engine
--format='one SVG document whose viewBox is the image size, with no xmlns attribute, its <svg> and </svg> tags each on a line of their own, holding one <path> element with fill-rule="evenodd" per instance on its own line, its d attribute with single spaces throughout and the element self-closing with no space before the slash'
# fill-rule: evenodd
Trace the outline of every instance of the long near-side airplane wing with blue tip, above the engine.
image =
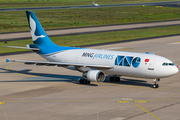
<svg viewBox="0 0 180 120">
<path fill-rule="evenodd" d="M 46 65 L 46 66 L 77 66 L 77 67 L 91 67 L 91 68 L 99 68 L 99 69 L 111 69 L 112 66 L 107 65 L 96 65 L 96 64 L 81 64 L 81 63 L 65 63 L 65 62 L 50 62 L 50 61 L 26 61 L 26 60 L 8 60 L 6 59 L 6 62 L 22 62 L 24 64 L 29 65 Z"/>
</svg>

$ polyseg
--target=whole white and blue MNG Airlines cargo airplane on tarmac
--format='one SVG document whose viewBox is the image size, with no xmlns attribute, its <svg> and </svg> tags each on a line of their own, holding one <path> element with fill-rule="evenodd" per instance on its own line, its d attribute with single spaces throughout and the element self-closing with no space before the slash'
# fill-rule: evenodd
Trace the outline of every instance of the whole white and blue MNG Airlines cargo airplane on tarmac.
<svg viewBox="0 0 180 120">
<path fill-rule="evenodd" d="M 103 82 L 106 75 L 110 81 L 120 81 L 120 76 L 154 79 L 153 88 L 158 88 L 160 78 L 178 73 L 178 67 L 165 58 L 153 53 L 110 51 L 78 47 L 57 46 L 47 36 L 33 11 L 26 11 L 34 44 L 27 47 L 5 46 L 29 49 L 47 61 L 8 60 L 27 65 L 58 66 L 82 73 L 80 84 Z"/>
</svg>

